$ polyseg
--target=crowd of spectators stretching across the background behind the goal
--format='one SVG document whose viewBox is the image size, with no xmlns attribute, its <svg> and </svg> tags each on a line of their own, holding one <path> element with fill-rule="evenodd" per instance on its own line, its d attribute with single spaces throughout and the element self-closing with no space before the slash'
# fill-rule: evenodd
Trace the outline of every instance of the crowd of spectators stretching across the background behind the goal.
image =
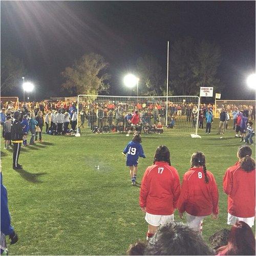
<svg viewBox="0 0 256 256">
<path fill-rule="evenodd" d="M 147 101 L 147 102 L 125 102 L 125 101 L 112 101 L 108 99 L 101 99 L 101 102 L 84 101 L 79 102 L 66 102 L 66 101 L 53 101 L 45 100 L 40 102 L 19 102 L 18 109 L 15 107 L 14 102 L 1 102 L 1 124 L 5 122 L 5 116 L 12 116 L 15 110 L 20 111 L 21 118 L 24 115 L 30 116 L 34 113 L 39 118 L 40 125 L 36 135 L 41 139 L 42 126 L 45 126 L 45 132 L 53 135 L 65 135 L 75 133 L 77 129 L 77 122 L 79 124 L 78 131 L 92 133 L 126 133 L 131 130 L 131 119 L 135 111 L 140 112 L 139 132 L 145 134 L 163 133 L 167 129 L 175 129 L 176 127 L 196 127 L 197 118 L 199 116 L 198 127 L 205 129 L 205 133 L 211 132 L 211 122 L 214 119 L 216 107 L 212 104 L 200 104 L 198 113 L 198 106 L 193 102 L 168 102 L 168 116 L 166 124 L 166 102 Z M 219 132 L 225 132 L 229 119 L 233 118 L 233 129 L 236 130 L 237 112 L 243 111 L 248 119 L 255 119 L 255 106 L 234 104 L 222 105 L 226 112 L 225 125 L 220 125 Z M 222 111 L 218 107 L 220 114 Z M 77 112 L 77 109 L 79 112 Z M 21 120 L 22 121 L 22 120 Z M 38 120 L 37 120 L 38 121 Z M 224 123 L 224 122 L 223 122 Z M 33 125 L 34 127 L 34 125 Z M 32 129 L 33 129 L 32 127 Z M 246 129 L 246 128 L 245 128 Z M 222 131 L 221 131 L 222 130 Z M 224 130 L 224 131 L 223 131 Z M 249 139 L 249 138 L 248 138 Z"/>
</svg>

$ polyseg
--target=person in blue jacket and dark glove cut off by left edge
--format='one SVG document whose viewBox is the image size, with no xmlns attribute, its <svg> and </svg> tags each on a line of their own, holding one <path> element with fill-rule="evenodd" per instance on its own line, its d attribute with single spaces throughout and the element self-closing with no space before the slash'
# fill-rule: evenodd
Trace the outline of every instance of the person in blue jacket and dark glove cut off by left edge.
<svg viewBox="0 0 256 256">
<path fill-rule="evenodd" d="M 11 225 L 11 216 L 8 209 L 8 197 L 6 187 L 3 185 L 3 176 L 1 176 L 1 255 L 8 255 L 6 236 L 9 236 L 11 243 L 15 244 L 18 241 L 18 236 Z"/>
</svg>

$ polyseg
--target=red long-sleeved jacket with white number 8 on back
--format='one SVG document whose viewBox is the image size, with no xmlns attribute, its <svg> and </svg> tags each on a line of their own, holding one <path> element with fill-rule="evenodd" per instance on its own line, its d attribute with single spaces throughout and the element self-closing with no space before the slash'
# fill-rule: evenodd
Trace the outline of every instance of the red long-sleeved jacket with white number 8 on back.
<svg viewBox="0 0 256 256">
<path fill-rule="evenodd" d="M 193 216 L 219 214 L 219 191 L 214 175 L 207 170 L 205 182 L 203 167 L 190 168 L 184 174 L 178 201 L 179 212 L 186 211 Z"/>
</svg>

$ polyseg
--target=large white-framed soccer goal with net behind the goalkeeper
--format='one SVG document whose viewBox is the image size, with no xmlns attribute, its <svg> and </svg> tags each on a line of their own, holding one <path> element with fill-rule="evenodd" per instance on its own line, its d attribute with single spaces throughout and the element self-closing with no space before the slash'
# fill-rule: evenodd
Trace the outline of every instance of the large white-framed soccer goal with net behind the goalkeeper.
<svg viewBox="0 0 256 256">
<path fill-rule="evenodd" d="M 79 134 L 127 133 L 139 111 L 141 134 L 197 134 L 198 96 L 129 97 L 78 95 Z"/>
</svg>

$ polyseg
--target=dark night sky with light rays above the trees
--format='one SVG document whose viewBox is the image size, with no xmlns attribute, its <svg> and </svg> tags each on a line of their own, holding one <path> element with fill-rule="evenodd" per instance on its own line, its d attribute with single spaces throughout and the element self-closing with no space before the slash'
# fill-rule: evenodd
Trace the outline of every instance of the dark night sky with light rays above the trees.
<svg viewBox="0 0 256 256">
<path fill-rule="evenodd" d="M 152 54 L 166 70 L 166 41 L 181 36 L 221 48 L 223 98 L 254 98 L 255 1 L 1 1 L 1 53 L 24 61 L 36 97 L 61 95 L 60 72 L 91 51 L 110 63 L 112 93 L 123 95 L 137 58 Z"/>
</svg>

